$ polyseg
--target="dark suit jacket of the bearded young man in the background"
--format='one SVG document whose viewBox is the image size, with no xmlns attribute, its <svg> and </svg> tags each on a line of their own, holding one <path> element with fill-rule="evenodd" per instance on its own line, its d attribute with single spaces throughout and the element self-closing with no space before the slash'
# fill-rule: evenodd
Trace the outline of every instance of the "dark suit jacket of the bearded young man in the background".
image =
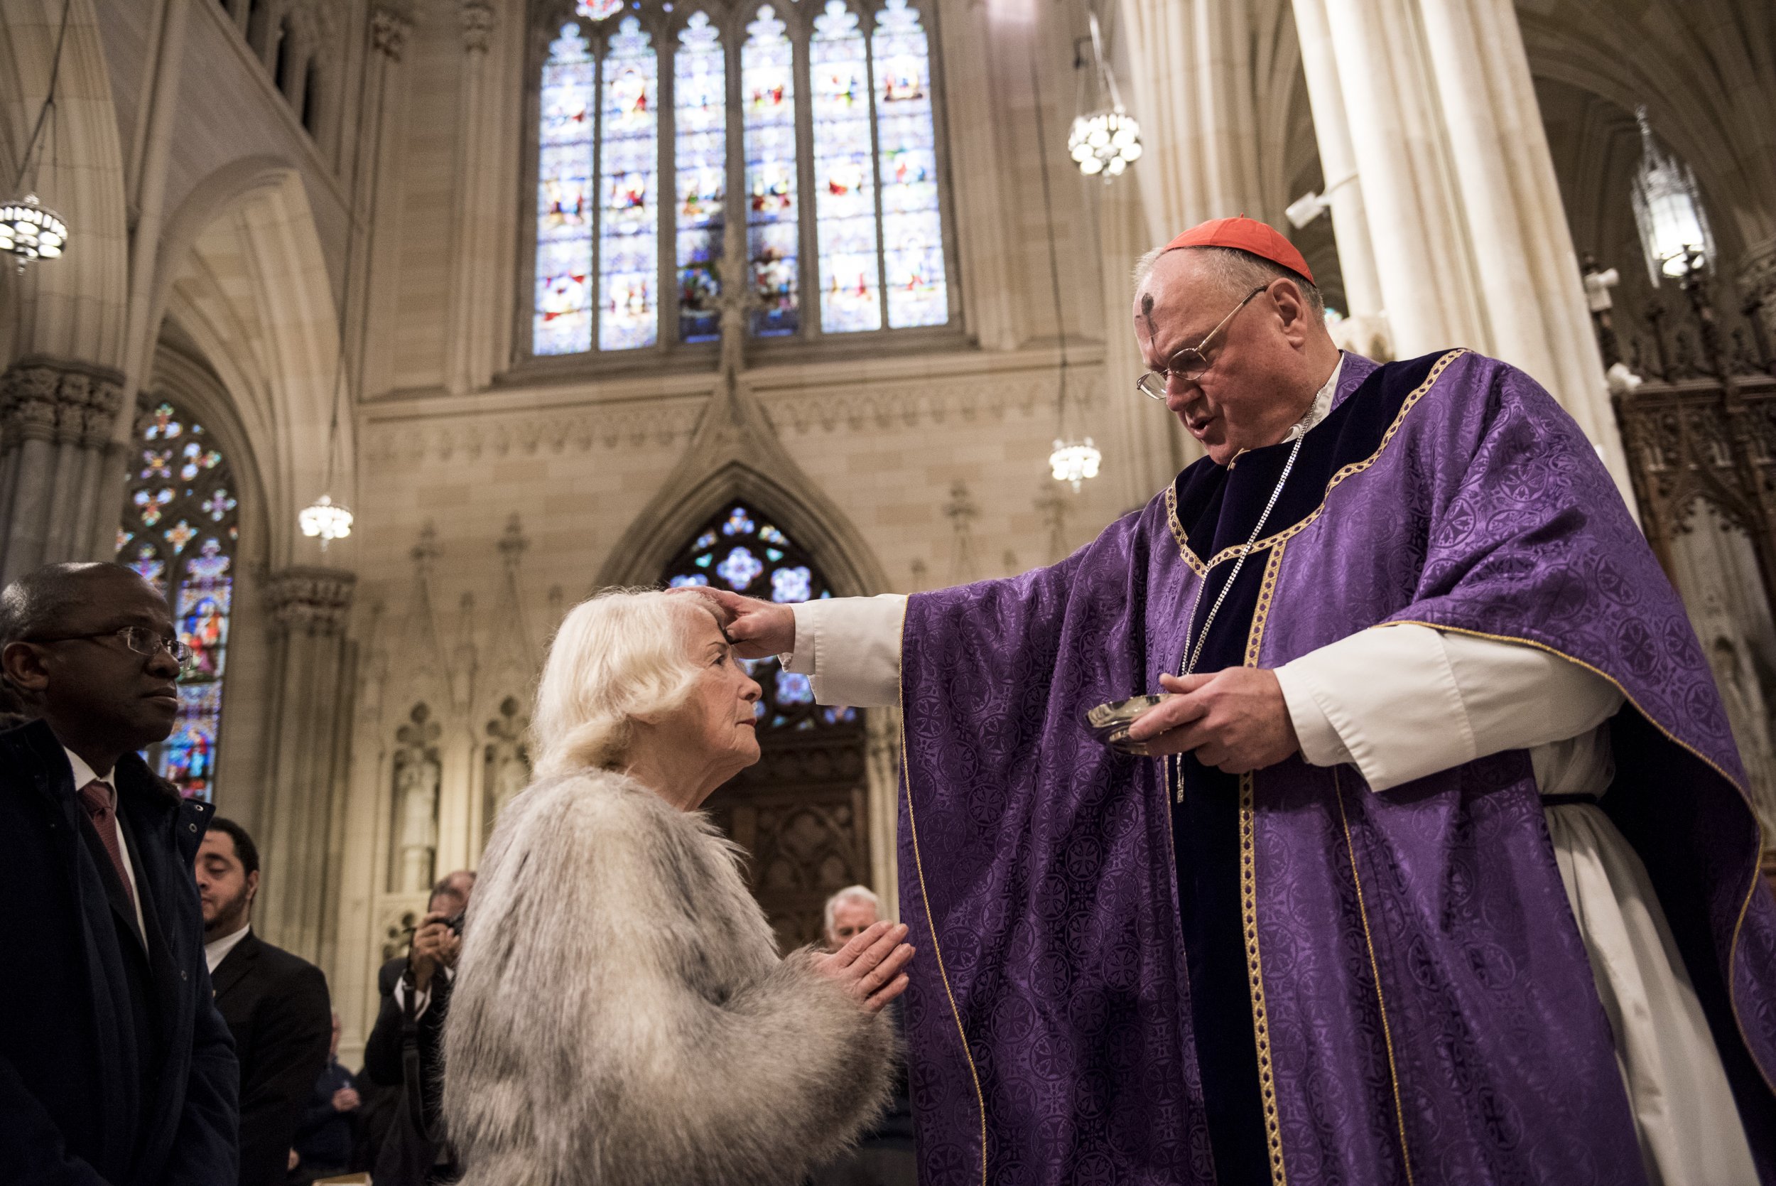
<svg viewBox="0 0 1776 1186">
<path fill-rule="evenodd" d="M 240 1058 L 240 1182 L 282 1186 L 302 1108 L 327 1065 L 327 976 L 250 930 L 211 973 Z"/>
</svg>

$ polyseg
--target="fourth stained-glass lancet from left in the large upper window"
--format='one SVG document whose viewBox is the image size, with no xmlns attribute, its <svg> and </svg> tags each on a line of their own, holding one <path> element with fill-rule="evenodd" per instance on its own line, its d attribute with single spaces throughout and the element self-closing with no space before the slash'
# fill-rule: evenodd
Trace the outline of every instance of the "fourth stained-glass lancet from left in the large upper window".
<svg viewBox="0 0 1776 1186">
<path fill-rule="evenodd" d="M 760 307 L 753 334 L 794 334 L 799 305 L 794 48 L 767 4 L 741 46 L 746 126 L 746 249 Z"/>
</svg>

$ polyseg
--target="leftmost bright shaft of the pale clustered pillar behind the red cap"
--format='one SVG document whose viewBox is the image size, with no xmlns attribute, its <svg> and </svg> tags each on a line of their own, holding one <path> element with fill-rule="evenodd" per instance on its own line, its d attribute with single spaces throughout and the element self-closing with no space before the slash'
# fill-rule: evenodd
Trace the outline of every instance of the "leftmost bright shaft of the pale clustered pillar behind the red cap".
<svg viewBox="0 0 1776 1186">
<path fill-rule="evenodd" d="M 1385 330 L 1382 277 L 1375 268 L 1369 211 L 1362 202 L 1362 178 L 1357 176 L 1357 149 L 1350 138 L 1350 117 L 1337 78 L 1327 0 L 1295 0 L 1295 28 L 1302 44 L 1307 103 L 1314 112 L 1314 137 L 1320 142 L 1320 172 L 1325 178 L 1321 185 L 1330 202 L 1337 265 L 1344 277 L 1344 312 Z"/>
</svg>

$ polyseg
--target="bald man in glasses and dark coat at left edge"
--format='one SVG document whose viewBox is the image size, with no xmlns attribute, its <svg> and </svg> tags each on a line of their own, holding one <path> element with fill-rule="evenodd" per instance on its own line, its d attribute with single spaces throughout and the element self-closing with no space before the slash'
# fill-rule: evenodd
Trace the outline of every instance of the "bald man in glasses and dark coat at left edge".
<svg viewBox="0 0 1776 1186">
<path fill-rule="evenodd" d="M 119 565 L 0 591 L 0 1182 L 233 1186 L 236 1063 L 192 858 L 210 822 L 135 751 L 179 712 L 185 644 Z"/>
</svg>

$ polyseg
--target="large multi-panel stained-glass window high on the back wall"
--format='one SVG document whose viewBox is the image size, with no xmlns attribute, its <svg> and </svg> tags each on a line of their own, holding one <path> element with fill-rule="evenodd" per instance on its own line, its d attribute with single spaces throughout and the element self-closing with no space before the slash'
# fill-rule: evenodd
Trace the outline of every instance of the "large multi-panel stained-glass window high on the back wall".
<svg viewBox="0 0 1776 1186">
<path fill-rule="evenodd" d="M 545 0 L 529 357 L 955 325 L 931 4 Z"/>
</svg>

